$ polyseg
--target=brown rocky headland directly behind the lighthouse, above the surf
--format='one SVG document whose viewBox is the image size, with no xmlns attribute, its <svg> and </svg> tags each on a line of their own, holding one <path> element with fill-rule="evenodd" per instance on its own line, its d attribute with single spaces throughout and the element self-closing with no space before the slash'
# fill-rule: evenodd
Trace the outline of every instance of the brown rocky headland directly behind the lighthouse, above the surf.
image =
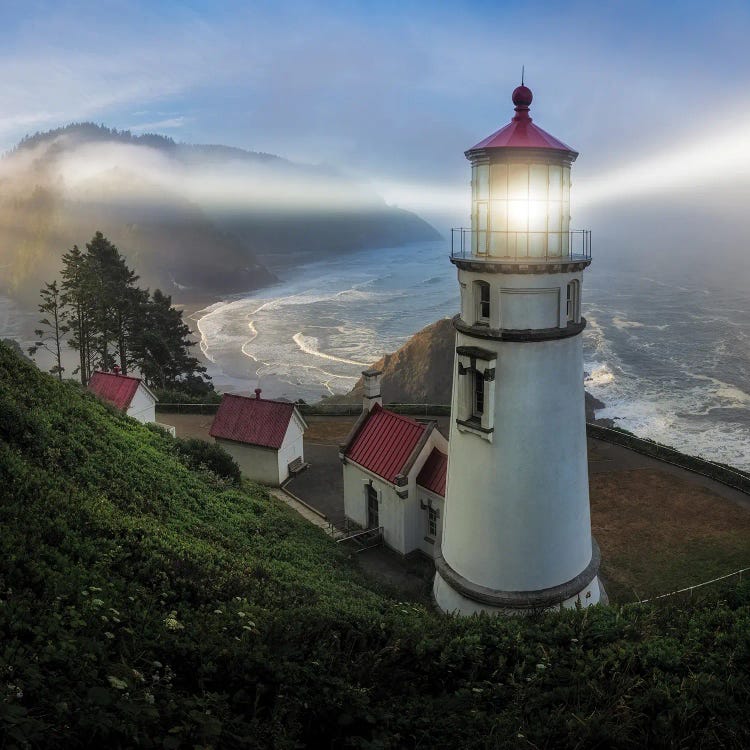
<svg viewBox="0 0 750 750">
<path fill-rule="evenodd" d="M 449 404 L 453 377 L 455 330 L 450 318 L 415 333 L 400 349 L 386 354 L 373 367 L 382 370 L 383 403 Z M 363 395 L 360 378 L 343 397 L 357 401 Z M 586 393 L 586 419 L 595 420 L 595 410 L 604 404 Z"/>
</svg>

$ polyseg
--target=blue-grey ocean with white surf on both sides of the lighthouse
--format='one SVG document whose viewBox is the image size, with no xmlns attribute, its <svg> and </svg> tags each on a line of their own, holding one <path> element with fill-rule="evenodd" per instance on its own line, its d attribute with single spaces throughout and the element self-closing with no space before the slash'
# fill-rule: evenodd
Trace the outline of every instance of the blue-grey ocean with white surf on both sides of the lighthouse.
<svg viewBox="0 0 750 750">
<path fill-rule="evenodd" d="M 750 469 L 750 292 L 690 263 L 586 271 L 586 387 L 609 417 L 682 451 Z M 345 393 L 362 369 L 455 314 L 446 242 L 362 250 L 277 270 L 281 283 L 193 316 L 220 390 Z"/>
</svg>

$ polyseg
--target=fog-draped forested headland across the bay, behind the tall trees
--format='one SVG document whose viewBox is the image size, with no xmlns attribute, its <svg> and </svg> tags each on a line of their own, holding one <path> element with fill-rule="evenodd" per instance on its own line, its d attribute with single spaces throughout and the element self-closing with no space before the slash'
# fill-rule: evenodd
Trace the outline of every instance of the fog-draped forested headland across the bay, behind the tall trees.
<svg viewBox="0 0 750 750">
<path fill-rule="evenodd" d="M 267 285 L 268 265 L 300 253 L 438 236 L 329 168 L 226 146 L 83 123 L 37 133 L 0 159 L 0 292 L 35 306 L 62 252 L 96 230 L 144 285 L 180 301 Z"/>
</svg>

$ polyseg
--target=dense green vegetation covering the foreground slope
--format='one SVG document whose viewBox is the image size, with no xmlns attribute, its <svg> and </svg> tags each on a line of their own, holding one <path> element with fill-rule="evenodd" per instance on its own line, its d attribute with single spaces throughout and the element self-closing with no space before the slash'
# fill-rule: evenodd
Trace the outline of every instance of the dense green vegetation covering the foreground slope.
<svg viewBox="0 0 750 750">
<path fill-rule="evenodd" d="M 38 747 L 742 747 L 750 589 L 457 619 L 0 345 L 0 727 Z"/>
</svg>

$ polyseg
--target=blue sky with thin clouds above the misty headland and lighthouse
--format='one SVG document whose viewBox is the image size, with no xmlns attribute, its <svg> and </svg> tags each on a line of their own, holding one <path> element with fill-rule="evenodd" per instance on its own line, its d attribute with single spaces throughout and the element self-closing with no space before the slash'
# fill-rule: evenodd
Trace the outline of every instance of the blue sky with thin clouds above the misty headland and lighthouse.
<svg viewBox="0 0 750 750">
<path fill-rule="evenodd" d="M 750 128 L 747 2 L 0 0 L 0 11 L 1 149 L 93 120 L 331 163 L 399 198 L 465 184 L 463 151 L 510 118 L 522 64 L 532 115 L 581 151 L 584 182 L 699 141 L 720 150 Z"/>
</svg>

